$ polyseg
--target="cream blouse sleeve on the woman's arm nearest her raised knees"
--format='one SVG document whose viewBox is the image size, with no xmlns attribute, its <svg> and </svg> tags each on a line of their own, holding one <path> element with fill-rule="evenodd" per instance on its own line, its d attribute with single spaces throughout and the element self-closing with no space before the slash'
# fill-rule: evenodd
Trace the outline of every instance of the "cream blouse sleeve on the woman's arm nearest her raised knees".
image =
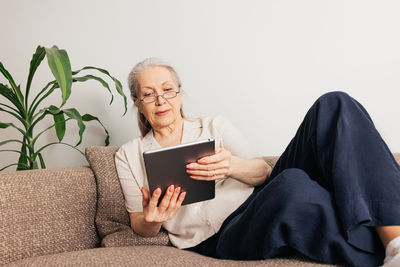
<svg viewBox="0 0 400 267">
<path fill-rule="evenodd" d="M 232 155 L 243 158 L 252 159 L 259 157 L 247 140 L 232 125 L 232 123 L 222 116 L 215 117 L 215 122 L 221 136 L 221 146 L 229 150 Z"/>
</svg>

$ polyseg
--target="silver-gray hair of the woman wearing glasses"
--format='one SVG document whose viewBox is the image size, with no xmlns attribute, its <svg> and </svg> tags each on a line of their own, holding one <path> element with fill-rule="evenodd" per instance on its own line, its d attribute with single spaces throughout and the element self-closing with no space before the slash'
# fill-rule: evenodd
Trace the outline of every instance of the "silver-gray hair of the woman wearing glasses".
<svg viewBox="0 0 400 267">
<path fill-rule="evenodd" d="M 137 63 L 128 75 L 128 86 L 131 92 L 131 98 L 135 102 L 135 104 L 138 103 L 137 101 L 140 90 L 140 84 L 137 78 L 142 71 L 149 67 L 163 67 L 168 69 L 171 73 L 173 81 L 175 82 L 175 85 L 179 88 L 179 90 L 181 90 L 181 80 L 179 79 L 178 74 L 171 65 L 167 64 L 165 61 L 159 58 L 146 58 L 145 60 Z M 182 106 L 180 109 L 180 113 L 182 118 L 185 118 Z M 140 133 L 144 137 L 152 129 L 152 127 L 146 117 L 142 113 L 140 113 L 139 110 L 137 111 L 137 117 Z"/>
</svg>

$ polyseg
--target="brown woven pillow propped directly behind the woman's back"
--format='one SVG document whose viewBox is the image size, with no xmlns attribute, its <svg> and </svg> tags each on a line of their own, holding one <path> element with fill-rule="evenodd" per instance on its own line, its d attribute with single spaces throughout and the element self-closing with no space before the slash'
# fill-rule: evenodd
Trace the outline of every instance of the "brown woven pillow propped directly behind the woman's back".
<svg viewBox="0 0 400 267">
<path fill-rule="evenodd" d="M 118 147 L 91 146 L 85 150 L 86 158 L 97 182 L 96 226 L 101 246 L 167 245 L 168 235 L 161 231 L 157 236 L 143 238 L 130 227 L 129 214 L 115 168 L 114 155 Z"/>
</svg>

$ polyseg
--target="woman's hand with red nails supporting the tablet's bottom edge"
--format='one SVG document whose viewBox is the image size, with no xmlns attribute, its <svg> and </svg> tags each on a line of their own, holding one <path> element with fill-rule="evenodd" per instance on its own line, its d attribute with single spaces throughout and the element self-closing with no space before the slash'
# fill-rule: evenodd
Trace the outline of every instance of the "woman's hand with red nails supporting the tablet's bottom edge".
<svg viewBox="0 0 400 267">
<path fill-rule="evenodd" d="M 174 217 L 186 195 L 186 192 L 180 192 L 180 187 L 175 188 L 174 185 L 170 185 L 160 205 L 157 207 L 158 199 L 161 196 L 161 189 L 157 188 L 154 190 L 151 197 L 149 189 L 142 187 L 141 191 L 143 194 L 144 220 L 148 223 L 163 223 Z"/>
</svg>

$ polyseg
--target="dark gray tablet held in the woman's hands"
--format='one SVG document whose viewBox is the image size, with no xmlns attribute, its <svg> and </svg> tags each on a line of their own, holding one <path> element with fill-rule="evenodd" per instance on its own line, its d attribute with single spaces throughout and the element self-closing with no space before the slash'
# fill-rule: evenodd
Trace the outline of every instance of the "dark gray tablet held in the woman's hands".
<svg viewBox="0 0 400 267">
<path fill-rule="evenodd" d="M 182 205 L 209 200 L 215 197 L 215 181 L 199 181 L 190 178 L 186 165 L 215 153 L 215 140 L 206 139 L 171 147 L 149 150 L 143 153 L 150 193 L 157 187 L 162 190 L 162 200 L 168 186 L 180 186 L 186 191 Z"/>
</svg>

